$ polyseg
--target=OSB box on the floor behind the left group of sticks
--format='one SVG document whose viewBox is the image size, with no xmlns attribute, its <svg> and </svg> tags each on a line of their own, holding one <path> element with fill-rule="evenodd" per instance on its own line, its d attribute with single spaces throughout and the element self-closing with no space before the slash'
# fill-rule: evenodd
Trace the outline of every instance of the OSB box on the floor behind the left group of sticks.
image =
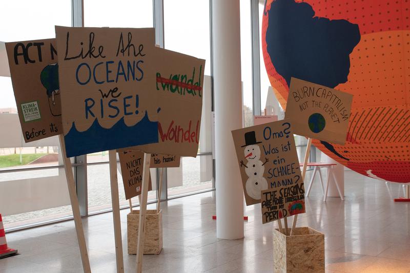
<svg viewBox="0 0 410 273">
<path fill-rule="evenodd" d="M 128 254 L 137 254 L 139 211 L 127 215 Z M 162 250 L 162 210 L 147 209 L 145 219 L 144 254 L 159 254 Z"/>
</svg>

